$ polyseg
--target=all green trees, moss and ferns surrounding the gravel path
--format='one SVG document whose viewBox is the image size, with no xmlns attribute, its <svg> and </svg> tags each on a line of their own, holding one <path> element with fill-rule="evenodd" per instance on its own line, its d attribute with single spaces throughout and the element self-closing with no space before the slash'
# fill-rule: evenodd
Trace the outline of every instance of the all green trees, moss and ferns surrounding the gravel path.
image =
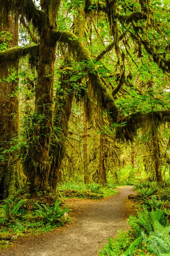
<svg viewBox="0 0 170 256">
<path fill-rule="evenodd" d="M 169 253 L 169 166 L 168 0 L 0 0 L 2 237 L 135 184 L 143 211 L 103 253 Z"/>
</svg>

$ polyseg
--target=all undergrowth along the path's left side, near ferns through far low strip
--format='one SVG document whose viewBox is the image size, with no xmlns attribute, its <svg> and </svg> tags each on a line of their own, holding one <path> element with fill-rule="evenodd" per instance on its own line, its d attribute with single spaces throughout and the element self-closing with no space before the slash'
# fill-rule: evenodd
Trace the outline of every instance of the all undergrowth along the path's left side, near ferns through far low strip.
<svg viewBox="0 0 170 256">
<path fill-rule="evenodd" d="M 29 199 L 21 189 L 13 198 L 0 204 L 0 247 L 10 244 L 18 236 L 52 231 L 70 222 L 68 207 L 61 207 L 62 198 L 102 199 L 117 191 L 112 184 L 61 183 L 56 195 L 37 191 L 36 199 Z"/>
</svg>

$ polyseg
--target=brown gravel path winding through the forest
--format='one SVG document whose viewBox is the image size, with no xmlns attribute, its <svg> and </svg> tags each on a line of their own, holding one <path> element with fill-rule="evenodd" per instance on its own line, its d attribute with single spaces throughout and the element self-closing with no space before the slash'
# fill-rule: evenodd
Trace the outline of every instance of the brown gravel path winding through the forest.
<svg viewBox="0 0 170 256">
<path fill-rule="evenodd" d="M 73 223 L 38 235 L 24 236 L 0 256 L 96 256 L 117 230 L 128 229 L 127 218 L 135 213 L 128 195 L 132 186 L 120 187 L 116 195 L 102 200 L 64 199 L 72 209 Z"/>
</svg>

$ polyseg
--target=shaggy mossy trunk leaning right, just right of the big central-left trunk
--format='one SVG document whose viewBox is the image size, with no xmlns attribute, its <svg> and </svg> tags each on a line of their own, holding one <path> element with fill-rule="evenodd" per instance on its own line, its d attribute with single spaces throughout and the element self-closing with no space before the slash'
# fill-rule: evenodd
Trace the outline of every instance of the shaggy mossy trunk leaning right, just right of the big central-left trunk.
<svg viewBox="0 0 170 256">
<path fill-rule="evenodd" d="M 53 191 L 56 190 L 62 160 L 66 152 L 66 137 L 68 135 L 69 117 L 72 112 L 73 92 L 69 83 L 70 72 L 64 70 L 61 73 L 61 90 L 56 91 L 55 99 L 55 116 L 54 116 L 54 132 L 52 145 L 50 148 L 51 168 L 49 174 L 49 186 Z"/>
</svg>

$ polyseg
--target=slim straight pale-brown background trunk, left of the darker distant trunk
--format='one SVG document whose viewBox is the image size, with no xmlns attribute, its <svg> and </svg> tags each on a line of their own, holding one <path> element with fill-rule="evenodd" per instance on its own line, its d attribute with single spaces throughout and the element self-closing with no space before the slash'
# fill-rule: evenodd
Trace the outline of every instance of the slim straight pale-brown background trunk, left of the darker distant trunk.
<svg viewBox="0 0 170 256">
<path fill-rule="evenodd" d="M 86 103 L 84 101 L 84 114 L 83 114 L 83 152 L 84 152 L 84 183 L 89 183 L 89 170 L 88 170 L 88 153 L 87 153 L 87 118 L 86 118 Z"/>
</svg>

